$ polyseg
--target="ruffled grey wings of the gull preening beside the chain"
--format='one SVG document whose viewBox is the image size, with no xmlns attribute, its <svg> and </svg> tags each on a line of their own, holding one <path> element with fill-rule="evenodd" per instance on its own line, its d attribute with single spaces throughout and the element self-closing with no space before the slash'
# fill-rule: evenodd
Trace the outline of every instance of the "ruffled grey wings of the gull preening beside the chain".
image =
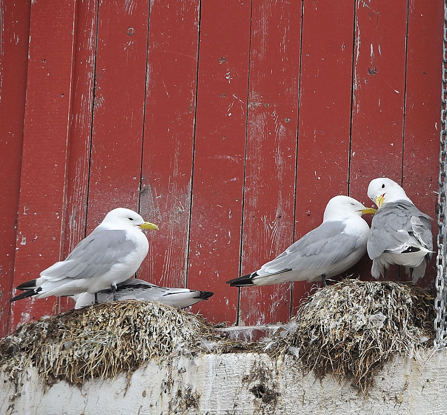
<svg viewBox="0 0 447 415">
<path fill-rule="evenodd" d="M 406 200 L 385 204 L 373 216 L 368 237 L 368 255 L 375 259 L 383 252 L 401 252 L 414 237 L 428 250 L 433 249 L 432 218 Z"/>
</svg>

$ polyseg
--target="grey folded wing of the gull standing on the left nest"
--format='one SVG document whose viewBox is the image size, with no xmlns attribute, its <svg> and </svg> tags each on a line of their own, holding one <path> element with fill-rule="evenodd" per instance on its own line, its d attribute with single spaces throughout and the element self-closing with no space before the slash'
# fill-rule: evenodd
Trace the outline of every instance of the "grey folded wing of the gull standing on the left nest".
<svg viewBox="0 0 447 415">
<path fill-rule="evenodd" d="M 126 239 L 126 231 L 95 229 L 75 246 L 65 261 L 56 262 L 40 276 L 48 281 L 101 276 L 135 249 L 135 243 Z"/>
</svg>

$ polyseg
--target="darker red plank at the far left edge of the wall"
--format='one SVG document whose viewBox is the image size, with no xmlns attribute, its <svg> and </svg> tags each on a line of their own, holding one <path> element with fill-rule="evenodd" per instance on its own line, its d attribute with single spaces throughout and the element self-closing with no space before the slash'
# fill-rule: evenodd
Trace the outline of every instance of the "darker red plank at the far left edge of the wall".
<svg viewBox="0 0 447 415">
<path fill-rule="evenodd" d="M 9 324 L 31 3 L 0 0 L 0 337 Z"/>
</svg>

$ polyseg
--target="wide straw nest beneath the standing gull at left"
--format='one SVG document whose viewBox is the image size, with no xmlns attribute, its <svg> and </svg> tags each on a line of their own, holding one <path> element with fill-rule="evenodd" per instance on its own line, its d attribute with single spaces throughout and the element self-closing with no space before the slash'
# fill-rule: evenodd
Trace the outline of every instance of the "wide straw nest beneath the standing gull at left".
<svg viewBox="0 0 447 415">
<path fill-rule="evenodd" d="M 82 386 L 91 378 L 128 377 L 145 361 L 248 348 L 223 339 L 201 316 L 152 301 L 117 301 L 31 322 L 0 340 L 0 369 L 17 386 L 30 366 L 44 385 Z"/>
</svg>

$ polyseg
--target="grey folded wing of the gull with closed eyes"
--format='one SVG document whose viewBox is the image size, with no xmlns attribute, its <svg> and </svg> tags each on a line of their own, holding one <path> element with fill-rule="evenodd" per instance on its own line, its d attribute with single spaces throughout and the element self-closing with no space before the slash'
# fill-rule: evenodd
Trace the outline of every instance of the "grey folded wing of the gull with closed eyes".
<svg viewBox="0 0 447 415">
<path fill-rule="evenodd" d="M 261 270 L 273 274 L 291 269 L 316 269 L 346 258 L 356 249 L 359 240 L 357 237 L 342 234 L 345 227 L 343 222 L 323 222 L 275 259 L 264 264 Z"/>
</svg>

